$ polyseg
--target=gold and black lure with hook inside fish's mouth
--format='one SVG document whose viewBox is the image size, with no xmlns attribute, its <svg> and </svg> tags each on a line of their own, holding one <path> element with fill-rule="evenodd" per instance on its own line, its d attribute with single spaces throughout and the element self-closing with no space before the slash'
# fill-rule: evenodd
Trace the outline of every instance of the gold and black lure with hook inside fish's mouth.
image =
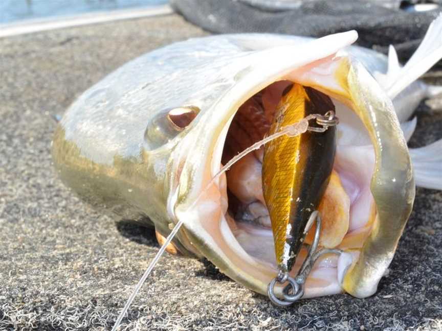
<svg viewBox="0 0 442 331">
<path fill-rule="evenodd" d="M 336 153 L 335 106 L 324 93 L 294 84 L 281 99 L 269 135 L 292 125 L 308 115 L 316 121 L 299 136 L 280 136 L 264 146 L 262 186 L 269 209 L 279 274 L 269 284 L 270 299 L 278 305 L 289 305 L 302 297 L 305 278 L 316 259 L 321 219 L 317 211 L 327 187 Z M 297 277 L 292 278 L 296 257 L 304 245 L 305 235 L 316 221 L 315 239 L 310 245 Z M 326 252 L 339 252 L 326 250 Z M 289 282 L 284 300 L 274 294 L 276 282 Z"/>
</svg>

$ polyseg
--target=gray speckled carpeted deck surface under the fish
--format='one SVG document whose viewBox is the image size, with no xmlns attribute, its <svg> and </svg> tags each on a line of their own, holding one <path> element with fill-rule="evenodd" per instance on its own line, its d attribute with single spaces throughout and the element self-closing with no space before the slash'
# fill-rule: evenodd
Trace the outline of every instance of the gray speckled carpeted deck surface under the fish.
<svg viewBox="0 0 442 331">
<path fill-rule="evenodd" d="M 116 224 L 57 179 L 50 145 L 61 114 L 129 59 L 204 33 L 178 16 L 0 40 L 0 329 L 110 329 L 158 249 L 151 230 Z M 421 105 L 413 147 L 442 138 L 442 114 Z M 127 329 L 442 329 L 442 193 L 417 190 L 411 219 L 379 291 L 289 309 L 208 263 L 166 256 Z M 121 329 L 124 329 L 122 327 Z"/>
</svg>

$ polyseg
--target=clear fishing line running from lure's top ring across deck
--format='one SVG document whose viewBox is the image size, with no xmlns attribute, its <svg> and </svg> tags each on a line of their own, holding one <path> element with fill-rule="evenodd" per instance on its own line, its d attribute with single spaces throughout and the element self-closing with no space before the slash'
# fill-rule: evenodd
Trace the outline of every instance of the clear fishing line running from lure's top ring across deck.
<svg viewBox="0 0 442 331">
<path fill-rule="evenodd" d="M 320 115 L 320 114 L 308 115 L 308 116 L 304 117 L 299 122 L 296 122 L 296 123 L 294 123 L 292 125 L 288 125 L 288 126 L 282 127 L 280 131 L 278 131 L 278 132 L 276 132 L 276 133 L 274 133 L 274 134 L 272 134 L 272 135 L 270 135 L 268 137 L 265 137 L 265 138 L 257 141 L 257 143 L 253 144 L 249 148 L 246 148 L 244 151 L 242 151 L 241 153 L 239 153 L 236 156 L 234 156 L 229 162 L 226 163 L 226 165 L 223 168 L 221 168 L 212 177 L 212 179 L 206 185 L 204 190 L 197 196 L 197 198 L 187 208 L 187 210 L 190 210 L 190 209 L 192 209 L 195 206 L 195 204 L 198 202 L 198 200 L 200 200 L 200 198 L 203 195 L 203 193 L 205 193 L 209 189 L 210 185 L 220 175 L 222 175 L 224 172 L 229 170 L 229 168 L 232 167 L 234 163 L 239 161 L 241 158 L 243 158 L 244 156 L 246 156 L 250 152 L 259 149 L 262 145 L 267 144 L 270 141 L 272 141 L 272 140 L 274 140 L 274 139 L 276 139 L 276 138 L 278 138 L 278 137 L 280 137 L 282 135 L 288 135 L 288 136 L 291 136 L 291 137 L 295 137 L 295 136 L 298 136 L 298 135 L 306 132 L 307 130 L 316 131 L 318 128 L 308 126 L 308 121 L 313 120 L 313 119 L 317 119 L 317 120 L 318 119 L 323 119 L 323 116 Z M 178 190 L 178 188 L 176 190 Z M 117 321 L 115 322 L 114 327 L 112 328 L 112 331 L 117 331 L 117 328 L 120 326 L 121 321 L 123 320 L 124 316 L 126 315 L 128 309 L 129 309 L 130 304 L 132 303 L 132 301 L 134 301 L 135 297 L 137 296 L 138 292 L 140 291 L 141 287 L 143 286 L 143 284 L 146 281 L 147 277 L 149 276 L 150 272 L 156 266 L 156 264 L 158 263 L 161 255 L 163 255 L 164 251 L 166 250 L 167 245 L 169 245 L 171 243 L 171 241 L 173 240 L 173 237 L 175 237 L 175 234 L 180 230 L 180 227 L 181 227 L 181 225 L 183 225 L 183 223 L 184 223 L 184 218 L 178 220 L 178 222 L 173 227 L 173 229 L 170 232 L 170 234 L 167 236 L 166 241 L 161 246 L 160 250 L 157 252 L 157 255 L 155 255 L 153 260 L 150 262 L 150 264 L 147 267 L 146 271 L 144 272 L 143 276 L 138 281 L 137 286 L 135 287 L 134 291 L 132 291 L 132 293 L 130 294 L 129 298 L 127 299 L 126 304 L 124 305 L 123 310 L 121 311 L 120 315 L 117 318 Z"/>
</svg>

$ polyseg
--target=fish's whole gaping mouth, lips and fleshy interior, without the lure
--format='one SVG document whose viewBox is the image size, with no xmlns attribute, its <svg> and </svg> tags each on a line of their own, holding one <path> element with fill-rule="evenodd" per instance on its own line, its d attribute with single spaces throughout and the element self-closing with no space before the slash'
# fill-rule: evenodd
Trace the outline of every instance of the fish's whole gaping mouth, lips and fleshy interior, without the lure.
<svg viewBox="0 0 442 331">
<path fill-rule="evenodd" d="M 355 36 L 348 33 L 347 37 Z M 284 90 L 293 84 L 313 87 L 331 98 L 340 119 L 333 172 L 319 206 L 324 220 L 319 245 L 343 252 L 325 254 L 316 262 L 303 297 L 342 291 L 369 296 L 391 262 L 414 200 L 410 157 L 392 103 L 364 67 L 345 53 L 332 51 L 281 71 L 271 81 L 245 90 L 239 103 L 230 102 L 227 110 L 218 108 L 224 115 L 219 122 L 214 116 L 195 121 L 193 129 L 201 129 L 196 139 L 209 142 L 195 145 L 193 136 L 180 145 L 173 167 L 181 172 L 171 184 L 176 191 L 169 196 L 169 211 L 175 218 L 185 218 L 188 245 L 229 277 L 266 294 L 278 268 L 262 196 L 262 148 L 216 180 L 212 177 L 223 163 L 267 134 Z M 238 85 L 248 75 L 253 76 L 244 73 Z M 217 106 L 226 99 L 229 96 L 223 96 Z M 190 157 L 183 158 L 191 149 Z M 195 164 L 191 155 L 197 154 L 204 155 L 204 161 L 200 157 Z M 313 231 L 306 243 L 311 242 Z M 302 249 L 291 276 L 305 256 Z M 281 295 L 281 287 L 276 292 Z"/>
</svg>

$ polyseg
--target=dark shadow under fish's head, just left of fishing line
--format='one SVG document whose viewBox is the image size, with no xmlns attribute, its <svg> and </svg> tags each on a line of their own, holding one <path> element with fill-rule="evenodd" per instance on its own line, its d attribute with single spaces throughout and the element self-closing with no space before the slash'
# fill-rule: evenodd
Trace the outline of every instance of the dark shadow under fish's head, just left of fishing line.
<svg viewBox="0 0 442 331">
<path fill-rule="evenodd" d="M 117 221 L 116 226 L 118 232 L 132 242 L 140 245 L 159 247 L 154 227 L 148 227 L 133 220 Z"/>
</svg>

